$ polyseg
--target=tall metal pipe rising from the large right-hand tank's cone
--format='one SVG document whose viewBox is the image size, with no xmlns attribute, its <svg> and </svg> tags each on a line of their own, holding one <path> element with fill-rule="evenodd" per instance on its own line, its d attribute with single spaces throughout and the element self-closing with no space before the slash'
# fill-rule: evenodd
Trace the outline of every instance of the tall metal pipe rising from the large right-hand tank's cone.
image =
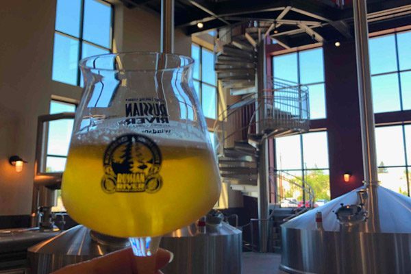
<svg viewBox="0 0 411 274">
<path fill-rule="evenodd" d="M 375 123 L 373 98 L 371 95 L 371 73 L 368 45 L 368 25 L 366 21 L 366 0 L 353 1 L 354 29 L 356 31 L 356 56 L 358 75 L 358 95 L 360 101 L 360 122 L 364 182 L 378 184 L 377 157 L 375 155 Z"/>
</svg>

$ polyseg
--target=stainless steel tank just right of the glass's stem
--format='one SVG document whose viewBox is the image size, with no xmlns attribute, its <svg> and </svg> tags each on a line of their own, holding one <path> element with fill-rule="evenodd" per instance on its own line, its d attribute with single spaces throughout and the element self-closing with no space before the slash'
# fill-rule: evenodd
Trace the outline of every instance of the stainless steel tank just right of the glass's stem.
<svg viewBox="0 0 411 274">
<path fill-rule="evenodd" d="M 240 274 L 242 232 L 227 223 L 190 225 L 164 236 L 160 246 L 174 253 L 167 274 Z"/>
</svg>

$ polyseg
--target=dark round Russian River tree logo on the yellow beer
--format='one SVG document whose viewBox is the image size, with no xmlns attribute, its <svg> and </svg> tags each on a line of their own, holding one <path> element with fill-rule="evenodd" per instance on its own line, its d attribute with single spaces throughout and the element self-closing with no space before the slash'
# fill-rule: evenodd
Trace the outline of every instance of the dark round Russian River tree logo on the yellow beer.
<svg viewBox="0 0 411 274">
<path fill-rule="evenodd" d="M 160 149 L 150 138 L 119 136 L 105 149 L 101 188 L 107 193 L 157 192 L 162 186 L 161 162 Z"/>
</svg>

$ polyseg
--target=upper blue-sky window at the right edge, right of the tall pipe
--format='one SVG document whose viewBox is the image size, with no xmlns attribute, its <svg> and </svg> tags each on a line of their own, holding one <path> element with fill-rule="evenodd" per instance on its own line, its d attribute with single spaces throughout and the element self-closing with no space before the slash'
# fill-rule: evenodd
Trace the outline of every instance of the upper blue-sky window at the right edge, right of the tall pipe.
<svg viewBox="0 0 411 274">
<path fill-rule="evenodd" d="M 411 32 L 371 38 L 374 112 L 411 110 Z"/>
</svg>

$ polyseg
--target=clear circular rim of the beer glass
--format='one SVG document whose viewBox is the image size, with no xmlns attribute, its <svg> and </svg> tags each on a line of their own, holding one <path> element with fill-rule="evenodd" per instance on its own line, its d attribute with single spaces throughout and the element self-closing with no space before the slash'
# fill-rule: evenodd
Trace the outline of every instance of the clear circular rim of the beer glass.
<svg viewBox="0 0 411 274">
<path fill-rule="evenodd" d="M 188 60 L 187 64 L 184 64 L 183 66 L 174 66 L 166 69 L 107 69 L 107 68 L 99 68 L 99 67 L 93 67 L 89 66 L 87 64 L 88 61 L 90 60 L 97 60 L 98 58 L 108 58 L 108 57 L 114 57 L 116 58 L 117 56 L 121 55 L 166 55 L 166 56 L 174 56 L 175 58 L 180 58 L 180 59 L 185 59 Z M 126 52 L 118 52 L 118 53 L 104 53 L 104 54 L 97 54 L 97 55 L 92 55 L 88 56 L 86 58 L 83 58 L 82 60 L 79 61 L 79 66 L 83 69 L 89 69 L 89 70 L 99 70 L 99 71 L 118 71 L 118 72 L 155 72 L 155 71 L 175 71 L 177 69 L 186 69 L 190 67 L 192 64 L 194 64 L 194 59 L 190 58 L 189 56 L 182 55 L 182 54 L 175 54 L 175 53 L 162 53 L 160 51 L 126 51 Z"/>
</svg>

